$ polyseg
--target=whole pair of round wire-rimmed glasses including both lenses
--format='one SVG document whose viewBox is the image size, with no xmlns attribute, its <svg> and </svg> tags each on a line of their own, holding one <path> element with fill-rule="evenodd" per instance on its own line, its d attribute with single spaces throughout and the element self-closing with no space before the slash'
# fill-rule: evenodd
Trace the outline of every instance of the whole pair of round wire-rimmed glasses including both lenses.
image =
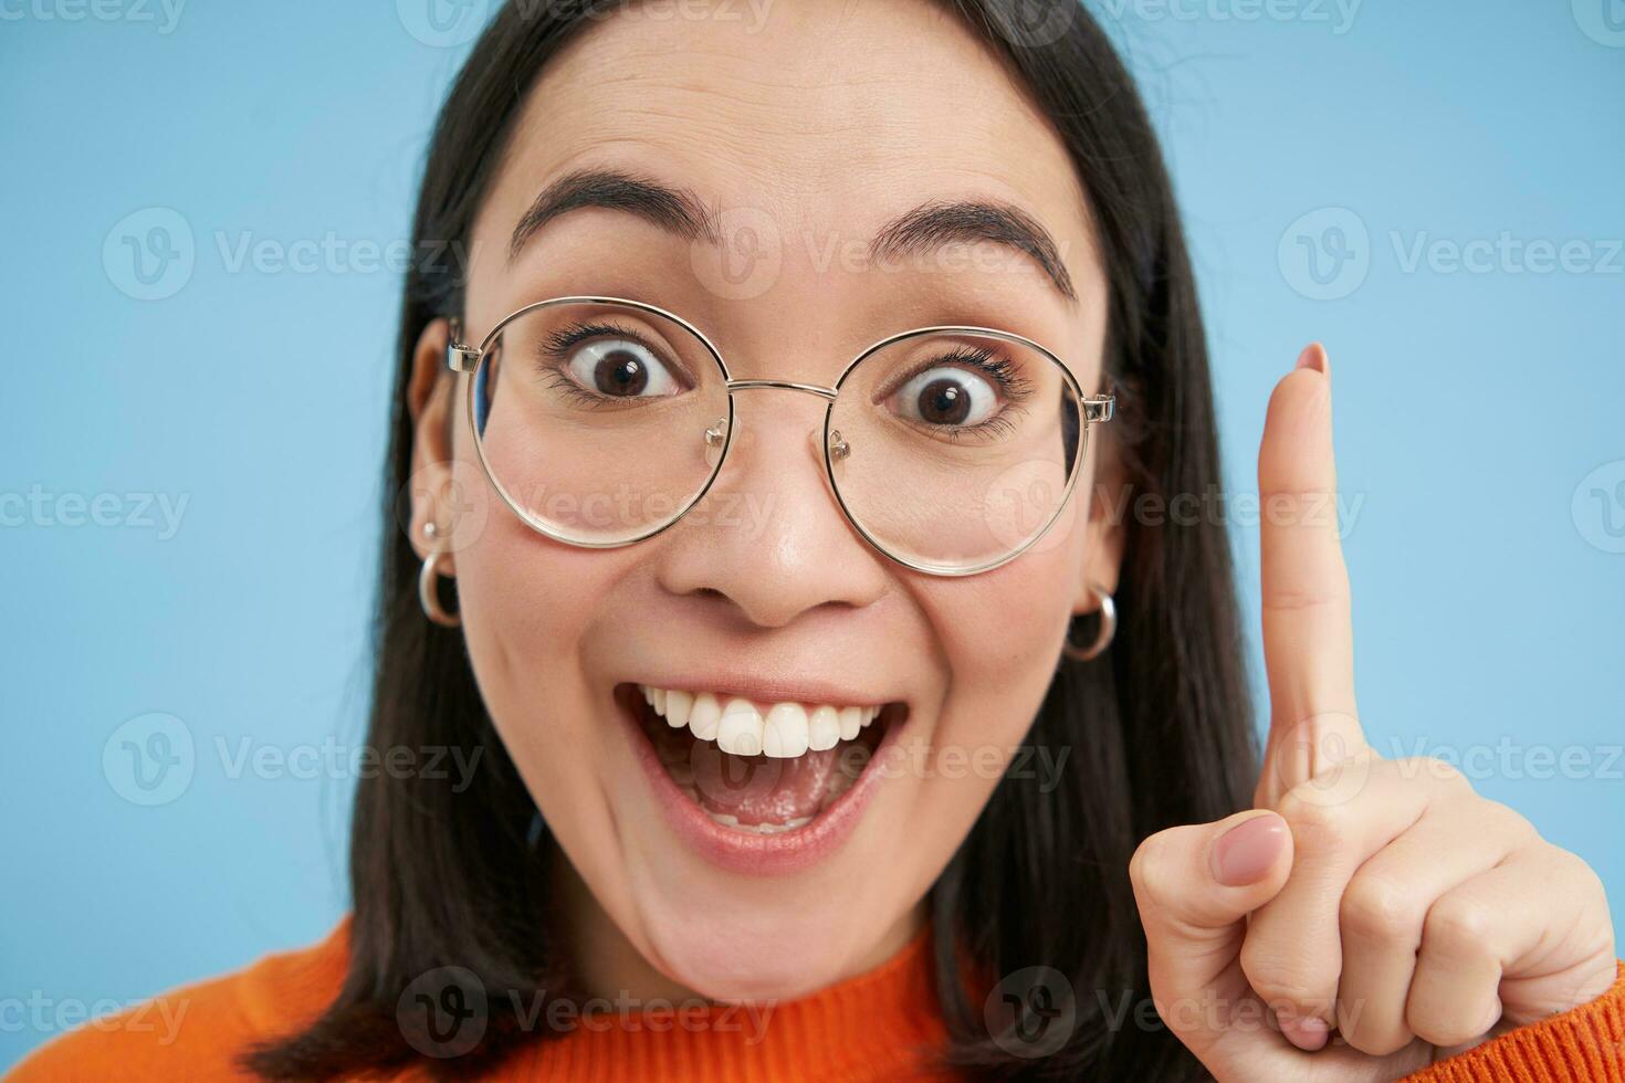
<svg viewBox="0 0 1625 1083">
<path fill-rule="evenodd" d="M 668 529 L 722 471 L 734 396 L 803 391 L 826 401 L 824 474 L 853 529 L 908 568 L 954 576 L 1043 537 L 1089 427 L 1115 408 L 1038 343 L 983 326 L 887 336 L 827 388 L 736 380 L 692 323 L 624 297 L 528 304 L 479 346 L 452 320 L 447 365 L 470 375 L 491 485 L 548 537 L 604 549 Z"/>
</svg>

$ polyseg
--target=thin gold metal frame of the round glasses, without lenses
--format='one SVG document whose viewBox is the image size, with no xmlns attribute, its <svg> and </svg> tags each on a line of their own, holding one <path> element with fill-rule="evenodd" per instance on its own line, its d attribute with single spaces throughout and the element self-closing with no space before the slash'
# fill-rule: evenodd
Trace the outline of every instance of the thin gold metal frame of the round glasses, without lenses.
<svg viewBox="0 0 1625 1083">
<path fill-rule="evenodd" d="M 725 424 L 723 424 L 722 430 L 718 432 L 717 427 L 712 427 L 712 429 L 708 429 L 705 432 L 705 442 L 710 447 L 717 447 L 718 443 L 722 445 L 722 448 L 720 448 L 720 451 L 717 455 L 717 463 L 715 463 L 715 466 L 712 466 L 710 477 L 705 479 L 705 484 L 700 487 L 700 490 L 697 494 L 694 494 L 694 497 L 687 503 L 684 503 L 681 508 L 678 508 L 671 515 L 670 520 L 666 520 L 660 526 L 656 526 L 653 529 L 648 529 L 648 531 L 645 531 L 645 533 L 642 533 L 642 534 L 639 534 L 635 537 L 627 537 L 627 539 L 622 539 L 622 541 L 582 541 L 582 539 L 577 539 L 577 537 L 569 537 L 566 534 L 561 534 L 557 529 L 551 528 L 546 521 L 536 518 L 535 515 L 531 515 L 530 511 L 526 511 L 523 507 L 520 507 L 520 503 L 514 498 L 514 495 L 502 485 L 502 481 L 496 476 L 496 471 L 491 469 L 491 463 L 486 460 L 484 442 L 479 438 L 478 414 L 476 414 L 476 398 L 474 398 L 476 396 L 476 386 L 479 383 L 478 378 L 476 378 L 476 375 L 479 372 L 479 365 L 483 365 L 486 362 L 486 359 L 491 356 L 491 349 L 492 349 L 492 346 L 496 346 L 496 343 L 500 338 L 502 330 L 505 326 L 509 326 L 510 323 L 514 323 L 520 317 L 523 317 L 523 315 L 526 315 L 530 312 L 535 312 L 538 309 L 546 309 L 546 307 L 551 307 L 551 305 L 564 305 L 564 304 L 624 305 L 627 309 L 634 309 L 634 310 L 639 310 L 639 312 L 647 312 L 650 315 L 656 315 L 656 317 L 661 317 L 665 320 L 671 320 L 673 323 L 676 323 L 678 326 L 681 326 L 684 331 L 687 331 L 689 334 L 692 334 L 705 347 L 705 352 L 708 352 L 710 357 L 712 357 L 712 360 L 717 362 L 717 370 L 722 373 L 723 388 L 728 391 L 728 417 L 723 419 Z M 473 440 L 474 440 L 474 451 L 479 456 L 479 466 L 481 466 L 481 469 L 486 474 L 486 481 L 491 482 L 491 487 L 497 490 L 497 494 L 502 497 L 502 502 L 509 505 L 509 508 L 514 511 L 514 515 L 517 515 L 520 518 L 522 523 L 525 523 L 526 526 L 530 526 L 538 534 L 551 537 L 552 541 L 557 541 L 557 542 L 564 542 L 567 546 L 577 546 L 580 549 L 621 549 L 622 546 L 635 546 L 640 541 L 647 541 L 647 539 L 650 539 L 650 537 L 653 537 L 653 536 L 656 536 L 656 534 L 660 534 L 663 531 L 671 529 L 678 521 L 682 520 L 684 515 L 687 515 L 694 508 L 694 505 L 697 505 L 700 500 L 705 498 L 705 494 L 710 492 L 712 484 L 722 474 L 722 468 L 728 461 L 728 448 L 733 447 L 733 432 L 734 432 L 734 424 L 733 424 L 734 422 L 734 393 L 736 391 L 748 391 L 748 390 L 777 388 L 777 390 L 785 390 L 785 391 L 804 391 L 808 395 L 816 395 L 816 396 L 819 396 L 819 398 L 824 399 L 824 438 L 822 438 L 822 448 L 824 448 L 824 479 L 829 484 L 830 494 L 835 497 L 835 503 L 840 507 L 840 513 L 845 516 L 847 523 L 858 533 L 858 536 L 863 537 L 864 542 L 868 542 L 876 552 L 879 552 L 881 555 L 884 555 L 887 560 L 894 560 L 894 562 L 897 562 L 897 563 L 900 563 L 905 568 L 910 568 L 913 572 L 921 572 L 921 573 L 926 573 L 926 575 L 954 576 L 954 578 L 957 578 L 957 576 L 967 576 L 967 575 L 980 575 L 983 572 L 991 572 L 993 568 L 998 568 L 998 567 L 1003 567 L 1003 565 L 1009 563 L 1016 557 L 1019 557 L 1024 552 L 1027 552 L 1029 549 L 1032 549 L 1032 546 L 1035 546 L 1038 542 L 1038 539 L 1042 539 L 1045 534 L 1050 533 L 1050 528 L 1055 526 L 1055 521 L 1061 518 L 1061 511 L 1064 511 L 1068 502 L 1071 502 L 1072 490 L 1077 485 L 1077 477 L 1082 474 L 1082 466 L 1084 466 L 1084 461 L 1086 461 L 1084 456 L 1086 456 L 1086 453 L 1089 450 L 1089 425 L 1112 421 L 1112 416 L 1116 411 L 1116 396 L 1115 395 L 1112 395 L 1110 391 L 1107 395 L 1094 395 L 1094 396 L 1084 395 L 1084 390 L 1077 383 L 1077 377 L 1072 375 L 1072 370 L 1068 369 L 1061 362 L 1061 359 L 1056 357 L 1045 346 L 1040 346 L 1038 343 L 1032 341 L 1030 338 L 1024 338 L 1024 336 L 1016 334 L 1012 331 L 999 331 L 996 328 L 985 328 L 985 326 L 938 325 L 938 326 L 923 326 L 923 328 L 913 328 L 913 330 L 908 330 L 908 331 L 899 331 L 897 334 L 887 334 L 886 338 L 879 339 L 878 343 L 873 343 L 871 346 L 866 346 L 864 349 L 858 351 L 858 354 L 850 362 L 847 362 L 847 367 L 842 369 L 840 377 L 835 380 L 834 386 L 822 386 L 822 385 L 817 385 L 817 383 L 796 383 L 796 382 L 791 382 L 791 380 L 736 380 L 728 372 L 728 362 L 723 360 L 722 351 L 717 349 L 715 344 L 712 344 L 710 338 L 707 338 L 704 331 L 700 331 L 697 326 L 694 326 L 692 323 L 689 323 L 682 317 L 676 315 L 674 312 L 666 312 L 665 309 L 660 309 L 658 305 L 652 305 L 652 304 L 647 304 L 647 302 L 642 302 L 642 300 L 632 300 L 632 299 L 627 299 L 627 297 L 572 296 L 572 297 L 549 297 L 548 300 L 538 300 L 538 302 L 523 305 L 520 309 L 515 309 L 509 315 L 502 317 L 496 323 L 496 326 L 492 326 L 486 333 L 486 336 L 479 341 L 479 346 L 470 346 L 468 343 L 462 341 L 462 338 L 463 338 L 463 325 L 462 325 L 462 318 L 460 317 L 452 317 L 448 320 L 448 325 L 450 325 L 450 334 L 447 338 L 447 347 L 445 347 L 445 365 L 453 373 L 460 373 L 460 375 L 470 377 L 466 380 L 468 386 L 466 386 L 466 395 L 465 395 L 465 414 L 468 417 L 470 434 L 473 435 Z M 884 542 L 881 542 L 878 537 L 874 537 L 873 534 L 869 534 L 868 529 L 864 529 L 863 523 L 858 521 L 858 516 L 847 505 L 845 497 L 842 497 L 842 494 L 840 494 L 840 482 L 835 481 L 835 463 L 840 458 L 845 458 L 845 455 L 847 455 L 847 445 L 845 445 L 845 442 L 840 437 L 840 430 L 832 429 L 830 422 L 832 422 L 834 412 L 835 412 L 835 399 L 840 395 L 840 388 L 845 385 L 847 378 L 852 375 L 852 372 L 860 364 L 863 364 L 863 360 L 866 357 L 869 357 L 876 351 L 886 349 L 887 346 L 890 346 L 894 343 L 900 343 L 900 341 L 908 339 L 908 338 L 918 338 L 918 336 L 925 336 L 925 334 L 944 334 L 944 333 L 947 333 L 947 334 L 978 334 L 978 336 L 998 338 L 998 339 L 1004 339 L 1004 341 L 1009 341 L 1009 343 L 1019 343 L 1022 346 L 1027 346 L 1027 347 L 1037 351 L 1040 356 L 1046 357 L 1056 367 L 1056 370 L 1060 370 L 1061 377 L 1066 380 L 1068 386 L 1071 386 L 1072 395 L 1077 398 L 1077 403 L 1079 403 L 1077 448 L 1074 451 L 1074 461 L 1071 463 L 1071 468 L 1068 471 L 1066 492 L 1061 494 L 1061 500 L 1056 503 L 1055 513 L 1050 515 L 1050 518 L 1043 524 L 1043 528 L 1040 528 L 1032 537 L 1029 537 L 1025 542 L 1022 542 L 1016 550 L 1012 550 L 1009 554 L 1004 554 L 1004 555 L 1001 555 L 1001 557 L 998 557 L 994 560 L 988 560 L 988 562 L 983 562 L 980 565 L 970 567 L 970 568 L 959 568 L 959 567 L 949 567 L 949 565 L 928 565 L 928 563 L 920 563 L 916 560 L 910 560 L 907 557 L 900 557 L 900 555 L 894 554 L 892 550 L 889 550 L 886 547 Z"/>
</svg>

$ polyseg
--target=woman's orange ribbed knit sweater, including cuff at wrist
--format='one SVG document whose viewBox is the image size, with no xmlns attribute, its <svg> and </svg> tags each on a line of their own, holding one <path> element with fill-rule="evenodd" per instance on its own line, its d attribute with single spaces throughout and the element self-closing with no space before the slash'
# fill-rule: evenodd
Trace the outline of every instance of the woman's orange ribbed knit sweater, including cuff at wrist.
<svg viewBox="0 0 1625 1083">
<path fill-rule="evenodd" d="M 10 1077 L 50 1080 L 245 1078 L 242 1047 L 309 1023 L 338 992 L 348 921 L 320 943 L 169 992 L 63 1034 Z M 947 1080 L 921 1051 L 944 1036 L 931 1005 L 923 930 L 876 969 L 756 1015 L 692 1008 L 621 1016 L 531 1042 L 505 1060 L 504 1080 Z M 765 1013 L 765 1015 L 764 1015 Z M 1510 1031 L 1407 1077 L 1407 1083 L 1625 1083 L 1625 963 L 1597 1000 Z"/>
</svg>

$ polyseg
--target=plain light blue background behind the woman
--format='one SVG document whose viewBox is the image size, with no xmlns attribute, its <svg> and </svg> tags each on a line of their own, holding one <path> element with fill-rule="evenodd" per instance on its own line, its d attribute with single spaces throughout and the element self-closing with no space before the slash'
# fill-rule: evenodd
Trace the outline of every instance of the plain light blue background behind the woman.
<svg viewBox="0 0 1625 1083">
<path fill-rule="evenodd" d="M 422 2 L 200 2 L 169 32 L 156 5 L 3 6 L 0 1067 L 55 1005 L 234 969 L 343 913 L 349 774 L 231 763 L 362 736 L 398 274 L 353 245 L 406 235 L 473 29 L 437 36 Z M 1272 383 L 1329 346 L 1370 739 L 1488 750 L 1480 791 L 1586 856 L 1625 919 L 1625 5 L 1443 6 L 1097 10 L 1165 133 L 1238 490 Z M 190 273 L 143 284 L 124 237 L 177 218 Z M 1409 257 L 1503 234 L 1581 247 L 1549 273 Z M 351 255 L 231 261 L 325 239 Z M 16 524 L 29 492 L 49 521 Z M 115 524 L 62 521 L 72 494 L 112 494 Z M 179 529 L 127 494 L 185 498 Z M 1251 611 L 1256 529 L 1235 533 Z M 164 750 L 153 726 L 193 740 L 171 792 L 120 768 L 127 739 Z"/>
</svg>

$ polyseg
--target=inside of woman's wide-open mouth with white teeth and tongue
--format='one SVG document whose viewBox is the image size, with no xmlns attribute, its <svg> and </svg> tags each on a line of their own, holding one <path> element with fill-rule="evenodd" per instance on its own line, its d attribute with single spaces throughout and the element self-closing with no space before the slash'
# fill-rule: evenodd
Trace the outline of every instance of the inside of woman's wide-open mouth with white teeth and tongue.
<svg viewBox="0 0 1625 1083">
<path fill-rule="evenodd" d="M 907 705 L 762 703 L 621 684 L 616 701 L 673 786 L 713 823 L 743 835 L 809 826 L 863 778 Z"/>
</svg>

